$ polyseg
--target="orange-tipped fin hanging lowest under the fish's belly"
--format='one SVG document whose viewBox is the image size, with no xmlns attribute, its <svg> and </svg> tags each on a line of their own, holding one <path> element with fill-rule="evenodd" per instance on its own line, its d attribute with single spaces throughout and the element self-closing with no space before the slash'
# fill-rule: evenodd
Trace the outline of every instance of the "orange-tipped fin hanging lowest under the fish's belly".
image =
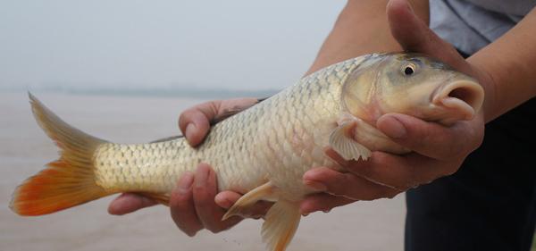
<svg viewBox="0 0 536 251">
<path fill-rule="evenodd" d="M 299 204 L 279 200 L 266 213 L 261 234 L 268 250 L 283 251 L 296 233 L 301 215 Z"/>
</svg>

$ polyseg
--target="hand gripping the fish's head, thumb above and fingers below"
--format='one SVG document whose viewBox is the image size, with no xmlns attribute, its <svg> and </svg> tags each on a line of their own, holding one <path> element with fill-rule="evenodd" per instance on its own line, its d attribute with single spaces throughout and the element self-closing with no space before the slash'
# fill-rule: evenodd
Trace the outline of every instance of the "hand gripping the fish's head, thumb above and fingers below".
<svg viewBox="0 0 536 251">
<path fill-rule="evenodd" d="M 387 6 L 391 34 L 406 51 L 429 54 L 478 79 L 492 92 L 490 75 L 472 65 L 446 41 L 418 19 L 406 0 L 391 0 Z M 483 109 L 482 109 L 483 110 Z M 306 198 L 302 213 L 329 211 L 356 200 L 395 197 L 409 188 L 426 184 L 458 170 L 465 157 L 482 144 L 484 116 L 472 121 L 457 121 L 450 127 L 422 121 L 404 114 L 384 114 L 376 127 L 401 146 L 413 150 L 408 155 L 373 152 L 370 160 L 344 161 L 331 149 L 326 154 L 348 172 L 320 167 L 304 174 L 304 184 L 323 190 Z"/>
</svg>

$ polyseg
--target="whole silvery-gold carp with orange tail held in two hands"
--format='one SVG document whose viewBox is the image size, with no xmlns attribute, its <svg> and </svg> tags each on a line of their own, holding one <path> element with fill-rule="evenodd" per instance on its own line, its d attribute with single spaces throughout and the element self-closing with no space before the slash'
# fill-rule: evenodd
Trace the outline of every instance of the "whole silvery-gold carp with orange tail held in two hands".
<svg viewBox="0 0 536 251">
<path fill-rule="evenodd" d="M 198 163 L 214 167 L 219 190 L 244 194 L 223 219 L 273 202 L 261 234 L 267 250 L 285 250 L 297 231 L 299 203 L 318 191 L 303 174 L 317 166 L 345 172 L 324 153 L 366 161 L 373 151 L 404 155 L 376 129 L 385 113 L 405 113 L 451 126 L 482 108 L 476 79 L 425 54 L 376 53 L 332 64 L 274 96 L 214 124 L 191 147 L 172 137 L 146 144 L 116 144 L 78 130 L 29 94 L 40 127 L 60 148 L 57 160 L 15 189 L 14 213 L 54 213 L 116 193 L 134 192 L 169 203 L 177 180 Z"/>
</svg>

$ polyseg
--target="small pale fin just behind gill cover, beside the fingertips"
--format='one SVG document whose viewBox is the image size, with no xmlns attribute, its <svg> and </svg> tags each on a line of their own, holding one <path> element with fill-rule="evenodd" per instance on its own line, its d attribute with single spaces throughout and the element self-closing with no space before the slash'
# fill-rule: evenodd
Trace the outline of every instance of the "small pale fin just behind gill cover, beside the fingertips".
<svg viewBox="0 0 536 251">
<path fill-rule="evenodd" d="M 353 138 L 353 130 L 356 127 L 356 121 L 347 121 L 335 130 L 330 135 L 330 146 L 345 160 L 366 160 L 371 156 L 371 151 L 359 144 Z"/>
</svg>

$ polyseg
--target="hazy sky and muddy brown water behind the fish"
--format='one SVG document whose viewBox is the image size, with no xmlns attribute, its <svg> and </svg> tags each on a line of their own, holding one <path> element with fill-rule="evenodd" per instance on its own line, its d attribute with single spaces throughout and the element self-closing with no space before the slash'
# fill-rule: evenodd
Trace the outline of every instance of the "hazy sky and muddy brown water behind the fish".
<svg viewBox="0 0 536 251">
<path fill-rule="evenodd" d="M 177 135 L 188 106 L 296 82 L 344 4 L 0 0 L 0 250 L 264 250 L 261 221 L 188 238 L 164 206 L 109 215 L 113 197 L 41 217 L 11 212 L 13 189 L 57 157 L 26 92 L 99 138 Z M 400 195 L 312 213 L 289 250 L 403 250 L 405 210 Z"/>
</svg>

